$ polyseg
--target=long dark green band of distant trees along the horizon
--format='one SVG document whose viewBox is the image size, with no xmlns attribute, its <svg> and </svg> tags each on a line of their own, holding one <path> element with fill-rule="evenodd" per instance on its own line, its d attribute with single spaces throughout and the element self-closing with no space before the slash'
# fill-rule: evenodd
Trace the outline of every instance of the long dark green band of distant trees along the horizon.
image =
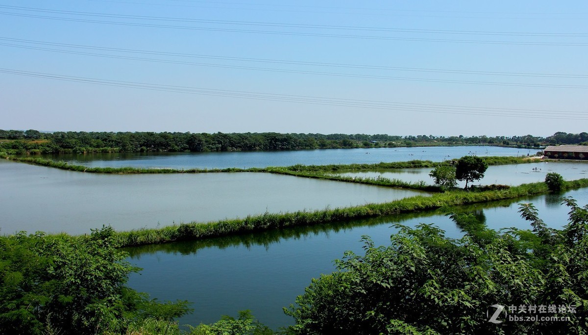
<svg viewBox="0 0 588 335">
<path fill-rule="evenodd" d="M 321 148 L 417 147 L 432 145 L 500 145 L 540 148 L 546 145 L 588 145 L 588 133 L 556 132 L 549 137 L 524 136 L 396 136 L 366 134 L 225 134 L 191 132 L 84 132 L 0 130 L 0 151 L 8 154 L 60 152 L 270 151 Z"/>
</svg>

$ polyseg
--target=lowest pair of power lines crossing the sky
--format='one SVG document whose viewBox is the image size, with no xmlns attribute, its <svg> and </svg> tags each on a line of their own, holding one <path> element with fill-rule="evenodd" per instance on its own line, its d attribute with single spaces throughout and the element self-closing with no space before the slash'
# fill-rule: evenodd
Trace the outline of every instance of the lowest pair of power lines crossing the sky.
<svg viewBox="0 0 588 335">
<path fill-rule="evenodd" d="M 588 120 L 588 113 L 582 111 L 556 111 L 556 110 L 524 110 L 516 108 L 491 108 L 468 107 L 456 105 L 414 104 L 406 102 L 369 101 L 362 99 L 342 99 L 328 97 L 313 97 L 309 95 L 272 94 L 249 91 L 232 91 L 226 89 L 197 88 L 176 85 L 150 84 L 143 82 L 115 81 L 108 79 L 73 77 L 67 75 L 46 74 L 42 72 L 20 71 L 15 69 L 0 68 L 1 73 L 21 75 L 26 77 L 55 79 L 61 81 L 83 82 L 86 84 L 106 85 L 113 87 L 126 87 L 148 89 L 153 91 L 178 92 L 184 94 L 209 95 L 215 97 L 255 99 L 265 101 L 296 102 L 300 104 L 329 105 L 336 107 L 368 108 L 376 110 L 396 110 L 412 112 L 428 112 L 433 114 L 461 114 L 461 115 L 485 115 L 495 117 L 524 117 L 551 120 Z"/>
</svg>

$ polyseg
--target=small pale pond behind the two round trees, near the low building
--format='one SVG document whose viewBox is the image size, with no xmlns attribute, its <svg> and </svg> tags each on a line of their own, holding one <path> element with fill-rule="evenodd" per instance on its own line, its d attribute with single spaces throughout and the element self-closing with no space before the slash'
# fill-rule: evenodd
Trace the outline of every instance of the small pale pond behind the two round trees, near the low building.
<svg viewBox="0 0 588 335">
<path fill-rule="evenodd" d="M 404 181 L 425 181 L 428 184 L 433 183 L 429 177 L 431 168 L 406 168 L 396 170 L 366 171 L 342 173 L 352 177 L 378 177 L 382 176 L 390 179 L 400 179 Z M 556 172 L 563 176 L 565 180 L 576 180 L 588 178 L 588 162 L 566 162 L 566 161 L 537 161 L 530 164 L 512 164 L 512 165 L 494 165 L 488 167 L 484 178 L 473 184 L 490 185 L 520 185 L 525 183 L 536 183 L 544 181 L 545 175 L 550 172 Z M 465 186 L 464 182 L 459 185 Z"/>
</svg>

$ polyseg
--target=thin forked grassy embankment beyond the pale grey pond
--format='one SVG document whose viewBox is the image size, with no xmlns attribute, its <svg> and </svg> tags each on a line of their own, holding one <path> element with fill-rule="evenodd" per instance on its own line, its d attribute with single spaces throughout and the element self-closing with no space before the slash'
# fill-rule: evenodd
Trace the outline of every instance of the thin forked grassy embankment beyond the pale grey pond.
<svg viewBox="0 0 588 335">
<path fill-rule="evenodd" d="M 42 165 L 45 167 L 59 168 L 68 171 L 79 171 L 85 173 L 105 173 L 105 174 L 156 174 L 156 173 L 220 173 L 220 172 L 265 172 L 274 174 L 293 175 L 296 177 L 316 178 L 323 180 L 343 181 L 346 183 L 358 183 L 377 185 L 384 187 L 400 187 L 411 190 L 421 190 L 429 192 L 440 192 L 442 189 L 435 185 L 427 184 L 425 181 L 410 183 L 399 179 L 389 179 L 383 177 L 348 177 L 337 175 L 347 171 L 383 171 L 402 168 L 433 168 L 440 164 L 450 164 L 450 161 L 433 162 L 433 161 L 406 161 L 406 162 L 380 162 L 377 164 L 335 164 L 335 165 L 292 165 L 289 167 L 267 167 L 267 168 L 214 168 L 214 169 L 189 169 L 178 170 L 172 168 L 136 168 L 136 167 L 85 167 L 83 165 L 69 164 L 65 161 L 54 161 L 38 157 L 10 157 L 9 159 L 26 162 L 29 164 Z M 484 157 L 488 165 L 501 164 L 520 164 L 533 162 L 529 158 L 523 157 Z"/>
</svg>

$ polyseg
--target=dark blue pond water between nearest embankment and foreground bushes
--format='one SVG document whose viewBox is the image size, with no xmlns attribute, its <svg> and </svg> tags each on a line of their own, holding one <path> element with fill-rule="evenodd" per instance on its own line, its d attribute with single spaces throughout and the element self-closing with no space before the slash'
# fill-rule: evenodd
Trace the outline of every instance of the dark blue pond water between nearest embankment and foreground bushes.
<svg viewBox="0 0 588 335">
<path fill-rule="evenodd" d="M 588 189 L 569 191 L 579 204 L 588 203 Z M 466 208 L 489 227 L 529 228 L 518 213 L 518 203 L 532 202 L 550 227 L 562 227 L 569 209 L 560 205 L 562 195 L 543 195 L 478 204 Z M 131 263 L 144 270 L 133 274 L 131 287 L 160 300 L 192 301 L 194 314 L 182 323 L 212 323 L 223 314 L 236 316 L 250 309 L 258 319 L 276 329 L 293 320 L 282 307 L 294 303 L 310 279 L 335 268 L 333 260 L 343 252 L 362 253 L 360 238 L 368 235 L 376 245 L 389 244 L 394 223 L 415 226 L 434 223 L 446 235 L 459 238 L 455 224 L 438 211 L 419 215 L 397 215 L 324 227 L 270 231 L 246 236 L 217 238 L 191 243 L 129 248 Z M 173 283 L 173 284 L 170 284 Z"/>
</svg>

